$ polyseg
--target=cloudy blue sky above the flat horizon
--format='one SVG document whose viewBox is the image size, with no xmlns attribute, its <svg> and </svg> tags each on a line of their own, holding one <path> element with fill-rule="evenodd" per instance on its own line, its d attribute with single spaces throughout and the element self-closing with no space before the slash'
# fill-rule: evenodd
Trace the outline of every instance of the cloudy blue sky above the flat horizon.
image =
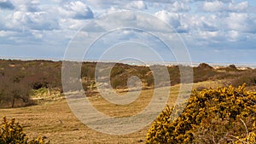
<svg viewBox="0 0 256 144">
<path fill-rule="evenodd" d="M 150 14 L 155 20 L 163 20 L 171 26 L 193 62 L 256 63 L 255 0 L 0 0 L 0 58 L 62 60 L 84 26 L 87 29 L 83 31 L 96 32 L 96 26 L 91 25 L 90 29 L 88 25 L 104 16 L 108 18 L 104 26 L 114 27 L 114 21 L 119 19 L 124 20 L 126 26 L 125 15 L 108 17 L 108 14 L 126 10 Z M 136 26 L 138 21 L 143 22 L 144 27 L 155 21 L 149 18 L 146 21 L 140 15 L 132 20 Z M 154 22 L 154 26 L 157 25 Z M 134 30 L 109 32 L 97 39 L 87 57 L 98 59 L 112 44 L 116 50 L 112 50 L 108 58 L 119 58 L 122 53 L 130 56 L 145 53 L 143 55 L 148 54 L 145 60 L 150 60 L 154 55 L 145 52 L 149 49 L 145 44 L 153 43 L 151 45 L 157 46 L 154 53 L 159 53 L 163 60 L 175 60 L 176 55 L 167 55 L 166 46 L 157 42 L 157 37 L 145 33 Z M 143 40 L 124 44 L 136 39 Z M 112 42 L 121 44 L 115 47 Z M 143 52 L 135 52 L 136 47 Z M 177 46 L 175 49 L 182 48 Z"/>
</svg>

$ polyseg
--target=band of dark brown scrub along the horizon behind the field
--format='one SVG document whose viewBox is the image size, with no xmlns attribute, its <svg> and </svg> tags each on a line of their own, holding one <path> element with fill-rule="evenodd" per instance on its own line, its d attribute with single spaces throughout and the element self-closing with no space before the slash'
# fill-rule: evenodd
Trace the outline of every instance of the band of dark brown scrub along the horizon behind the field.
<svg viewBox="0 0 256 144">
<path fill-rule="evenodd" d="M 35 104 L 31 100 L 34 90 L 47 89 L 48 95 L 61 89 L 61 61 L 50 60 L 0 60 L 0 107 L 24 107 Z M 108 65 L 108 63 L 106 63 Z M 85 92 L 95 95 L 95 62 L 84 62 L 81 67 L 81 78 Z M 184 66 L 186 68 L 186 66 Z M 168 66 L 171 84 L 180 83 L 179 66 Z M 218 69 L 205 63 L 193 67 L 194 82 L 206 80 L 224 80 L 226 85 L 248 84 L 255 90 L 256 69 L 239 70 L 234 65 Z M 148 66 L 130 66 L 116 64 L 111 71 L 111 85 L 114 89 L 126 88 L 127 79 L 137 76 L 143 82 L 143 89 L 154 88 L 154 77 Z M 163 82 L 164 86 L 167 82 Z M 254 86 L 254 87 L 253 87 Z M 33 90 L 34 89 L 34 90 Z"/>
</svg>

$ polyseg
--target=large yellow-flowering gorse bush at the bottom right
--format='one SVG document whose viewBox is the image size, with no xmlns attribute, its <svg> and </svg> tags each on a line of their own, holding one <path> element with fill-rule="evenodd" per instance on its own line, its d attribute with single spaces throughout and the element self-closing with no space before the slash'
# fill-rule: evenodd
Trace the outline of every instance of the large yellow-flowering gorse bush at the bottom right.
<svg viewBox="0 0 256 144">
<path fill-rule="evenodd" d="M 186 106 L 166 107 L 160 113 L 148 130 L 146 143 L 254 144 L 255 103 L 256 93 L 247 91 L 245 84 L 193 90 Z M 180 112 L 178 107 L 185 108 Z M 173 121 L 171 116 L 177 119 Z"/>
</svg>

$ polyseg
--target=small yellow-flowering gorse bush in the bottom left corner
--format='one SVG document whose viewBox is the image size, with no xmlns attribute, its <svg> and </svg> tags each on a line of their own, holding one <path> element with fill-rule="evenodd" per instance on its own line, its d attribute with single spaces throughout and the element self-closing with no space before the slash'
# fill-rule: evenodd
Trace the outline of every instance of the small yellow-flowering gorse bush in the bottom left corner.
<svg viewBox="0 0 256 144">
<path fill-rule="evenodd" d="M 0 144 L 49 144 L 49 141 L 45 142 L 41 136 L 28 141 L 22 126 L 19 123 L 15 123 L 15 118 L 8 122 L 7 118 L 3 117 L 3 124 L 1 124 L 0 128 Z"/>
</svg>

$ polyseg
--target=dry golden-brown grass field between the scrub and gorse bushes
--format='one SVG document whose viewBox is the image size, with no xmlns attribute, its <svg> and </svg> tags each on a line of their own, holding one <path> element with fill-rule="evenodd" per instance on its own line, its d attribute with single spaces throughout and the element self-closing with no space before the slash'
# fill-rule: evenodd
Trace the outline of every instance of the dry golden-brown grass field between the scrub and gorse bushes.
<svg viewBox="0 0 256 144">
<path fill-rule="evenodd" d="M 217 82 L 201 82 L 194 84 L 198 87 L 216 87 Z M 170 89 L 170 88 L 161 88 Z M 168 104 L 172 106 L 177 99 L 179 85 L 172 86 Z M 153 89 L 143 90 L 137 101 L 121 107 L 109 104 L 100 96 L 90 97 L 89 100 L 99 111 L 112 117 L 124 117 L 136 114 L 146 107 L 153 94 Z M 149 95 L 149 96 L 148 96 Z M 183 95 L 189 95 L 183 92 Z M 25 132 L 31 137 L 46 136 L 51 143 L 143 143 L 150 127 L 145 127 L 130 135 L 106 135 L 91 130 L 81 123 L 71 112 L 65 98 L 55 101 L 45 101 L 32 107 L 0 109 L 0 115 L 16 120 L 25 126 Z"/>
</svg>

